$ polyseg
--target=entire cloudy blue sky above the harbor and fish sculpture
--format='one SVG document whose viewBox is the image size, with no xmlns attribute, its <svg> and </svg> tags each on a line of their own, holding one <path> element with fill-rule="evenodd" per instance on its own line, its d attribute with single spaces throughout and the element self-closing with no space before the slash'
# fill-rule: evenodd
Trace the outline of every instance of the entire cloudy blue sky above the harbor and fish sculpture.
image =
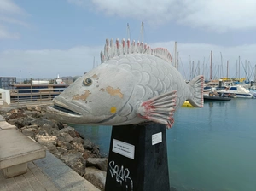
<svg viewBox="0 0 256 191">
<path fill-rule="evenodd" d="M 253 80 L 255 34 L 255 0 L 0 0 L 0 77 L 81 76 L 130 37 L 173 58 L 177 42 L 186 79 L 210 78 L 212 51 L 212 78 Z"/>
</svg>

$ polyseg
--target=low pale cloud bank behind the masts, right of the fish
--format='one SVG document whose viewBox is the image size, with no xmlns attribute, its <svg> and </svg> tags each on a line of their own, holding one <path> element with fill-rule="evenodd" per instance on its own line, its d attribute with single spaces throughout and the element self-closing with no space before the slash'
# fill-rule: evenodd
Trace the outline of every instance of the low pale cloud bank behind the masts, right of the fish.
<svg viewBox="0 0 256 191">
<path fill-rule="evenodd" d="M 152 47 L 165 47 L 169 49 L 172 58 L 174 58 L 174 42 L 154 43 Z M 210 55 L 212 50 L 212 78 L 221 78 L 227 76 L 227 61 L 229 61 L 228 77 L 230 78 L 251 78 L 255 76 L 256 55 L 254 50 L 256 44 L 241 45 L 236 47 L 224 47 L 206 43 L 177 43 L 179 67 L 178 70 L 183 76 L 189 79 L 193 76 L 191 73 L 192 63 L 195 63 L 196 74 L 204 74 L 210 78 Z M 239 73 L 240 56 L 240 73 Z M 246 64 L 247 60 L 247 64 Z M 191 61 L 191 65 L 189 65 Z M 237 61 L 237 68 L 236 68 Z M 198 63 L 200 64 L 198 65 Z M 203 64 L 204 63 L 204 64 Z M 194 71 L 195 71 L 194 70 Z"/>
</svg>

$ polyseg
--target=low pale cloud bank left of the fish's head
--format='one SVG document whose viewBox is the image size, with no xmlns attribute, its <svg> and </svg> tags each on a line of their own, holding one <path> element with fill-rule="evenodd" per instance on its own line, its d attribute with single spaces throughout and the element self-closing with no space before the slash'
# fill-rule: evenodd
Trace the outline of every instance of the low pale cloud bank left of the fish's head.
<svg viewBox="0 0 256 191">
<path fill-rule="evenodd" d="M 21 78 L 82 75 L 92 69 L 93 55 L 100 64 L 100 50 L 84 46 L 66 50 L 6 50 L 0 53 L 1 75 Z"/>
</svg>

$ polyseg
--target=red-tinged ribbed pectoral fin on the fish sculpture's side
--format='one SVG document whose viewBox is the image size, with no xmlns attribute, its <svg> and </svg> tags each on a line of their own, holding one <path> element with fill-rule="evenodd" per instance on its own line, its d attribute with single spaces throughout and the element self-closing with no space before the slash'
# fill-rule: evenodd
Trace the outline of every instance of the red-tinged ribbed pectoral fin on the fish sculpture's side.
<svg viewBox="0 0 256 191">
<path fill-rule="evenodd" d="M 173 113 L 176 106 L 176 91 L 167 92 L 144 101 L 137 109 L 138 115 L 149 121 L 166 124 L 166 128 L 172 128 L 174 123 Z"/>
</svg>

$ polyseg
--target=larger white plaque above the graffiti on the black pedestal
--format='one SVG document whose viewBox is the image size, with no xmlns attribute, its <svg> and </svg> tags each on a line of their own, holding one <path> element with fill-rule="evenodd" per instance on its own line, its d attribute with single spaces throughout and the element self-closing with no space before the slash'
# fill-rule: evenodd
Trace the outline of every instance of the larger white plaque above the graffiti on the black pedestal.
<svg viewBox="0 0 256 191">
<path fill-rule="evenodd" d="M 127 142 L 121 142 L 119 140 L 113 139 L 113 148 L 114 153 L 119 153 L 130 159 L 134 159 L 134 150 L 135 146 Z"/>
</svg>

